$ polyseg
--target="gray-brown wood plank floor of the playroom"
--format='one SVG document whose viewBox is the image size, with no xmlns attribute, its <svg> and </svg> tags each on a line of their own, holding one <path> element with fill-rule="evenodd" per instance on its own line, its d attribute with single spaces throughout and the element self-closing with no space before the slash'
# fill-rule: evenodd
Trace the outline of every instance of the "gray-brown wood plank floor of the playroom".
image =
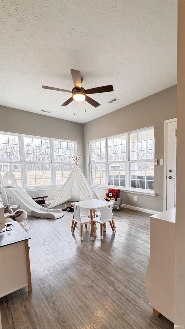
<svg viewBox="0 0 185 329">
<path fill-rule="evenodd" d="M 79 226 L 71 235 L 72 215 L 27 218 L 33 291 L 0 298 L 3 329 L 173 328 L 152 314 L 145 290 L 149 214 L 114 209 L 116 235 L 107 224 L 100 240 L 97 224 L 94 241 L 89 225 L 83 241 Z"/>
</svg>

